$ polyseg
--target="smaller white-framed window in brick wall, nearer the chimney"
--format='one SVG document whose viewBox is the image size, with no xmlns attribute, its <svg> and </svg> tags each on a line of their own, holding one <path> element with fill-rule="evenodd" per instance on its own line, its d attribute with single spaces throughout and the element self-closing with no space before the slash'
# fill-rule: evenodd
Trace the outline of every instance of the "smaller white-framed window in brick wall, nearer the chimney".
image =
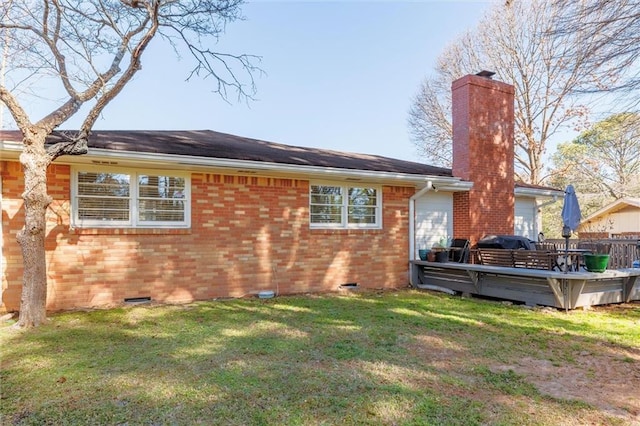
<svg viewBox="0 0 640 426">
<path fill-rule="evenodd" d="M 309 185 L 312 228 L 381 228 L 382 191 L 376 186 Z"/>
</svg>

